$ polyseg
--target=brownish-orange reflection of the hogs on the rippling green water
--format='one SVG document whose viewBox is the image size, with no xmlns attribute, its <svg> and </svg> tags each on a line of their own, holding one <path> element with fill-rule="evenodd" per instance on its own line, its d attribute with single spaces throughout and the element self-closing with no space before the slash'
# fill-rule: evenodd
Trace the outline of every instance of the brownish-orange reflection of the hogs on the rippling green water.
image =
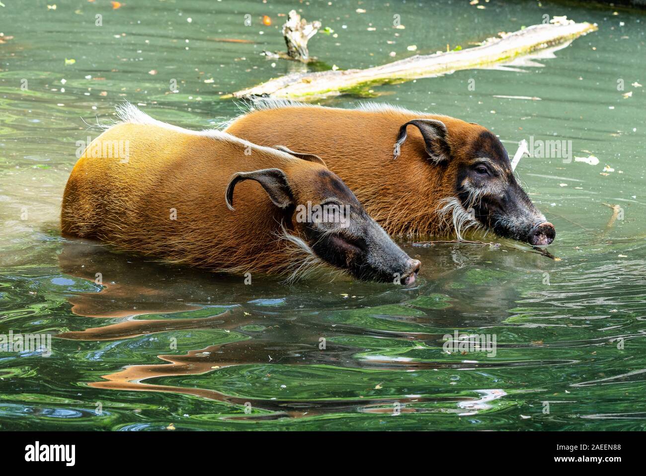
<svg viewBox="0 0 646 476">
<path fill-rule="evenodd" d="M 465 258 L 470 261 L 474 256 L 486 259 L 489 252 L 497 252 L 486 247 L 475 251 L 473 247 L 468 247 L 461 251 L 457 246 L 419 251 L 435 258 L 429 260 L 428 274 L 443 275 L 448 285 L 455 284 L 455 281 L 451 281 L 452 275 L 464 267 L 463 263 L 455 262 L 456 252 L 470 255 Z M 501 257 L 503 262 L 512 265 L 519 259 L 545 259 L 521 252 Z M 447 271 L 450 262 L 455 266 Z M 141 257 L 115 253 L 107 246 L 83 240 L 63 243 L 59 265 L 65 274 L 92 283 L 96 282 L 97 273 L 101 274 L 103 287 L 100 290 L 97 287 L 91 292 L 70 295 L 68 301 L 74 314 L 102 318 L 106 324 L 63 332 L 58 334 L 58 338 L 121 341 L 163 332 L 165 338 L 171 339 L 174 335 L 180 335 L 178 333 L 181 331 L 209 329 L 225 330 L 237 336 L 233 341 L 198 347 L 180 355 L 158 355 L 164 363 L 127 365 L 124 369 L 101 375 L 100 381 L 89 383 L 90 387 L 200 396 L 237 407 L 247 404 L 271 413 L 231 418 L 314 416 L 351 409 L 364 413 L 391 413 L 395 404 L 401 406 L 397 411 L 416 413 L 426 411 L 417 405 L 433 402 L 452 408 L 455 402 L 474 402 L 473 406 L 455 407 L 452 411 L 489 407 L 479 407 L 481 397 L 446 396 L 444 391 L 434 396 L 431 392 L 414 397 L 271 399 L 234 396 L 221 389 L 151 381 L 157 382 L 163 378 L 181 380 L 182 377 L 205 375 L 236 366 L 244 371 L 248 366 L 267 364 L 397 373 L 485 370 L 510 365 L 546 367 L 574 362 L 540 358 L 456 362 L 441 352 L 446 333 L 442 330 L 444 325 L 473 323 L 483 318 L 483 309 L 486 309 L 487 327 L 501 323 L 509 315 L 506 312 L 509 302 L 517 297 L 513 289 L 507 290 L 509 295 L 505 297 L 495 288 L 481 286 L 477 296 L 464 299 L 460 287 L 452 289 L 456 296 L 451 297 L 449 294 L 432 292 L 437 285 L 421 280 L 421 285 L 410 289 L 384 285 L 382 292 L 375 297 L 374 288 L 366 283 L 328 283 L 326 291 L 322 292 L 317 283 L 309 282 L 298 285 L 298 292 L 291 287 L 290 292 L 286 293 L 280 282 L 266 280 L 258 294 L 256 288 L 245 286 L 242 279 L 236 277 L 160 265 Z M 480 281 L 486 283 L 501 277 L 501 272 L 491 270 L 483 272 L 481 276 L 479 268 L 475 268 L 470 279 L 473 281 L 471 284 L 477 286 Z M 328 290 L 329 287 L 333 291 Z M 444 288 L 450 290 L 452 286 Z M 355 292 L 357 294 L 353 294 Z M 313 305 L 317 298 L 318 306 Z M 375 299 L 379 304 L 371 305 Z M 196 314 L 200 317 L 194 317 Z M 505 346 L 503 343 L 502 347 Z"/>
</svg>

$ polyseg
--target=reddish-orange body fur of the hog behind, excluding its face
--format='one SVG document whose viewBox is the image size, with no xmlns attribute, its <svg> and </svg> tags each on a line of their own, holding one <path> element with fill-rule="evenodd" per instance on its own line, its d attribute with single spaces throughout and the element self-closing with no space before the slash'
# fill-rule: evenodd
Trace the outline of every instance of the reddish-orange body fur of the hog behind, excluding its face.
<svg viewBox="0 0 646 476">
<path fill-rule="evenodd" d="M 441 120 L 448 129 L 452 160 L 443 173 L 431 163 L 415 127 L 408 127 L 401 156 L 393 160 L 399 127 L 417 118 Z M 486 129 L 449 116 L 397 108 L 287 105 L 240 116 L 225 131 L 256 144 L 283 144 L 297 152 L 319 155 L 387 232 L 413 235 L 453 231 L 450 214 L 439 210 L 445 200 L 455 197 L 457 170 Z"/>
</svg>

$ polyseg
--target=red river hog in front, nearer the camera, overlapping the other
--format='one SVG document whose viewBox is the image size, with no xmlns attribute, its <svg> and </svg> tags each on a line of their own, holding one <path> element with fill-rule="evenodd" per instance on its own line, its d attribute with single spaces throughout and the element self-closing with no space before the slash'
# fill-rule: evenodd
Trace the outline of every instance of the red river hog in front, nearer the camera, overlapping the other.
<svg viewBox="0 0 646 476">
<path fill-rule="evenodd" d="M 72 170 L 63 235 L 241 276 L 298 278 L 323 264 L 359 279 L 415 281 L 419 261 L 317 156 L 182 129 L 130 104 L 118 116 Z"/>
</svg>

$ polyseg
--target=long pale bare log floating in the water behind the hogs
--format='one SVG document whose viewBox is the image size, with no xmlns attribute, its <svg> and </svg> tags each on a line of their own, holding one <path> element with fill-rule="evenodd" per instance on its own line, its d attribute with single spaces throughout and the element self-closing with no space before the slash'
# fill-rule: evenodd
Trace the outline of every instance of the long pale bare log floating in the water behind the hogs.
<svg viewBox="0 0 646 476">
<path fill-rule="evenodd" d="M 555 21 L 556 20 L 556 21 Z M 397 83 L 416 78 L 438 76 L 461 69 L 487 68 L 508 63 L 539 50 L 566 47 L 573 39 L 597 29 L 590 23 L 574 23 L 565 17 L 554 23 L 533 25 L 502 38 L 486 40 L 475 48 L 415 55 L 405 60 L 368 69 L 299 72 L 269 80 L 258 86 L 234 92 L 236 98 L 271 96 L 313 100 L 355 92 L 361 87 Z M 231 95 L 223 96 L 231 97 Z"/>
</svg>

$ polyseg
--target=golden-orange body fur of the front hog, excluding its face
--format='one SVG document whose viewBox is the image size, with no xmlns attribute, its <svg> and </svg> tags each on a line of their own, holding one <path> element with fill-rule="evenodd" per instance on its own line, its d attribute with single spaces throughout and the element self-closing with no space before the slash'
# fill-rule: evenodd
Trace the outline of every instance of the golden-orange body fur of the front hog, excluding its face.
<svg viewBox="0 0 646 476">
<path fill-rule="evenodd" d="M 234 211 L 225 204 L 225 189 L 234 173 L 280 168 L 295 197 L 316 199 L 325 166 L 217 131 L 192 133 L 151 122 L 117 124 L 93 141 L 129 141 L 125 163 L 89 157 L 92 146 L 83 153 L 65 188 L 63 235 L 241 274 L 287 272 L 303 259 L 278 238 L 284 211 L 258 182 L 236 186 Z M 286 227 L 298 235 L 297 223 Z"/>
</svg>

